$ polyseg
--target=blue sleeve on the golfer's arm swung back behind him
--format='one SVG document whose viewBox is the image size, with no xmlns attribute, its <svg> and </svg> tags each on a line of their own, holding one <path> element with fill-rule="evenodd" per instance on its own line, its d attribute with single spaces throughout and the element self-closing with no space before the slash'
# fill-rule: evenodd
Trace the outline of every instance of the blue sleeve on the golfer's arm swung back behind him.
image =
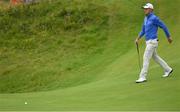
<svg viewBox="0 0 180 112">
<path fill-rule="evenodd" d="M 170 37 L 170 33 L 168 31 L 168 28 L 166 27 L 166 25 L 158 17 L 155 18 L 154 24 L 159 26 L 160 28 L 162 28 L 164 30 L 164 33 L 166 34 L 167 38 Z"/>
</svg>

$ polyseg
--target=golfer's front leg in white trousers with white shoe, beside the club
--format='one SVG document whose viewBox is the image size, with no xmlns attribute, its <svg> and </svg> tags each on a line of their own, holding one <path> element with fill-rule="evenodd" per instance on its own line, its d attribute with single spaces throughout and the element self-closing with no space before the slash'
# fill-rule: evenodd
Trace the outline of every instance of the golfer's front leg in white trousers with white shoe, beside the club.
<svg viewBox="0 0 180 112">
<path fill-rule="evenodd" d="M 151 45 L 151 44 L 146 45 L 146 49 L 145 49 L 144 56 L 143 56 L 143 68 L 142 68 L 141 73 L 139 75 L 139 79 L 136 80 L 137 83 L 146 81 L 146 76 L 148 73 L 150 59 L 152 58 L 154 50 L 155 50 L 154 45 Z"/>
</svg>

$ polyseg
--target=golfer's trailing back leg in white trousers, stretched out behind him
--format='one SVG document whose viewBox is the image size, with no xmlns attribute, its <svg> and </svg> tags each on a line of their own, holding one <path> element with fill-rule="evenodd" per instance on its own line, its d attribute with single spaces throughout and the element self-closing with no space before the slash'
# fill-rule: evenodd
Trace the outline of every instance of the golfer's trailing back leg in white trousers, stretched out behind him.
<svg viewBox="0 0 180 112">
<path fill-rule="evenodd" d="M 169 65 L 157 54 L 156 49 L 153 53 L 153 59 L 164 69 L 165 74 L 169 74 L 169 72 L 171 72 L 172 68 L 169 67 Z"/>
</svg>

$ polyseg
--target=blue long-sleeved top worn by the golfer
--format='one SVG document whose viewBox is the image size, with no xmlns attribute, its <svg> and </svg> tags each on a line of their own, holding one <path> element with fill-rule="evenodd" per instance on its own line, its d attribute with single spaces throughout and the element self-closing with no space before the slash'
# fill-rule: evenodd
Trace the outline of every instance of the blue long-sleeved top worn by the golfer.
<svg viewBox="0 0 180 112">
<path fill-rule="evenodd" d="M 139 37 L 141 38 L 145 35 L 146 41 L 157 39 L 158 27 L 164 30 L 167 38 L 170 37 L 170 33 L 166 25 L 156 15 L 154 15 L 154 13 L 150 13 L 144 18 L 144 23 L 142 30 L 139 33 Z"/>
</svg>

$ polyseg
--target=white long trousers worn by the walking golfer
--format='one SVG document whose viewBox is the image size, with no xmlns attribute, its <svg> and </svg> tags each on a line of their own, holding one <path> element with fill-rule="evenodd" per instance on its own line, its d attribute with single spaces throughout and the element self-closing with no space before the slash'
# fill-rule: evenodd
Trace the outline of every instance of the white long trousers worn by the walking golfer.
<svg viewBox="0 0 180 112">
<path fill-rule="evenodd" d="M 158 41 L 157 39 L 146 41 L 146 49 L 143 56 L 143 68 L 141 69 L 140 78 L 146 78 L 149 68 L 150 59 L 153 58 L 165 72 L 170 71 L 168 64 L 157 54 Z"/>
</svg>

